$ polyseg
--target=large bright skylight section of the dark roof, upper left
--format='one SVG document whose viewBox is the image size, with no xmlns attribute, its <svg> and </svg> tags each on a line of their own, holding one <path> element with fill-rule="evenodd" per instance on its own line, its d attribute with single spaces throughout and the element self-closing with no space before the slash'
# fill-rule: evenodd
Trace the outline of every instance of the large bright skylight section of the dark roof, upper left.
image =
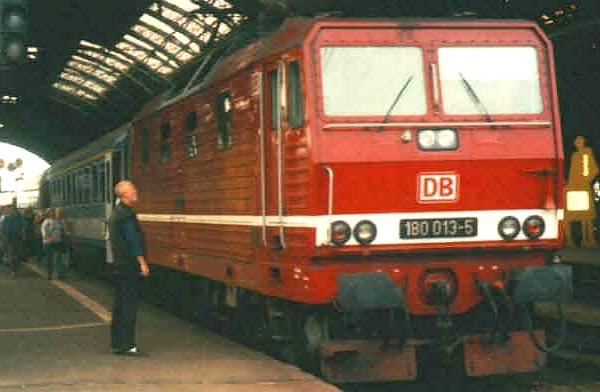
<svg viewBox="0 0 600 392">
<path fill-rule="evenodd" d="M 85 113 L 108 95 L 126 101 L 136 100 L 132 91 L 155 96 L 244 20 L 228 0 L 155 1 L 114 47 L 80 41 L 53 84 L 55 101 Z"/>
</svg>

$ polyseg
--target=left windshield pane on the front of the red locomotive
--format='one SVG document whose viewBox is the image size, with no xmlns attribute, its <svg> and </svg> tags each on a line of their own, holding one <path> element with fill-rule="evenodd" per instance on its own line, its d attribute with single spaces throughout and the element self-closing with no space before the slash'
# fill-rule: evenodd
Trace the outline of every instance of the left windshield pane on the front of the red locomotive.
<svg viewBox="0 0 600 392">
<path fill-rule="evenodd" d="M 321 48 L 323 108 L 329 116 L 423 115 L 423 50 L 402 46 Z"/>
</svg>

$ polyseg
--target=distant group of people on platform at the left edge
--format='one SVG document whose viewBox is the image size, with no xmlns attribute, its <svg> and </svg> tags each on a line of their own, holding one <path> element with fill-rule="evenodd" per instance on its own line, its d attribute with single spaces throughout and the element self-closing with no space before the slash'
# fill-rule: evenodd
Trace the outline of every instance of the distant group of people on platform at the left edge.
<svg viewBox="0 0 600 392">
<path fill-rule="evenodd" d="M 45 264 L 48 279 L 64 277 L 69 255 L 67 230 L 58 208 L 34 212 L 15 204 L 2 207 L 0 215 L 0 262 L 16 275 L 23 262 L 36 258 Z"/>
</svg>

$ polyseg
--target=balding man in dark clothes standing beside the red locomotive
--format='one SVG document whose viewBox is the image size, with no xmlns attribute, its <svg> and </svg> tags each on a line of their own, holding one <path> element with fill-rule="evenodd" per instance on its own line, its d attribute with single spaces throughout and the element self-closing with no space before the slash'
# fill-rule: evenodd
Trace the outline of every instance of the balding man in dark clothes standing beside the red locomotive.
<svg viewBox="0 0 600 392">
<path fill-rule="evenodd" d="M 140 275 L 148 277 L 144 236 L 132 207 L 137 190 L 132 182 L 115 186 L 119 204 L 109 219 L 111 250 L 116 269 L 116 292 L 113 307 L 110 351 L 120 355 L 140 355 L 135 342 L 135 324 Z"/>
</svg>

